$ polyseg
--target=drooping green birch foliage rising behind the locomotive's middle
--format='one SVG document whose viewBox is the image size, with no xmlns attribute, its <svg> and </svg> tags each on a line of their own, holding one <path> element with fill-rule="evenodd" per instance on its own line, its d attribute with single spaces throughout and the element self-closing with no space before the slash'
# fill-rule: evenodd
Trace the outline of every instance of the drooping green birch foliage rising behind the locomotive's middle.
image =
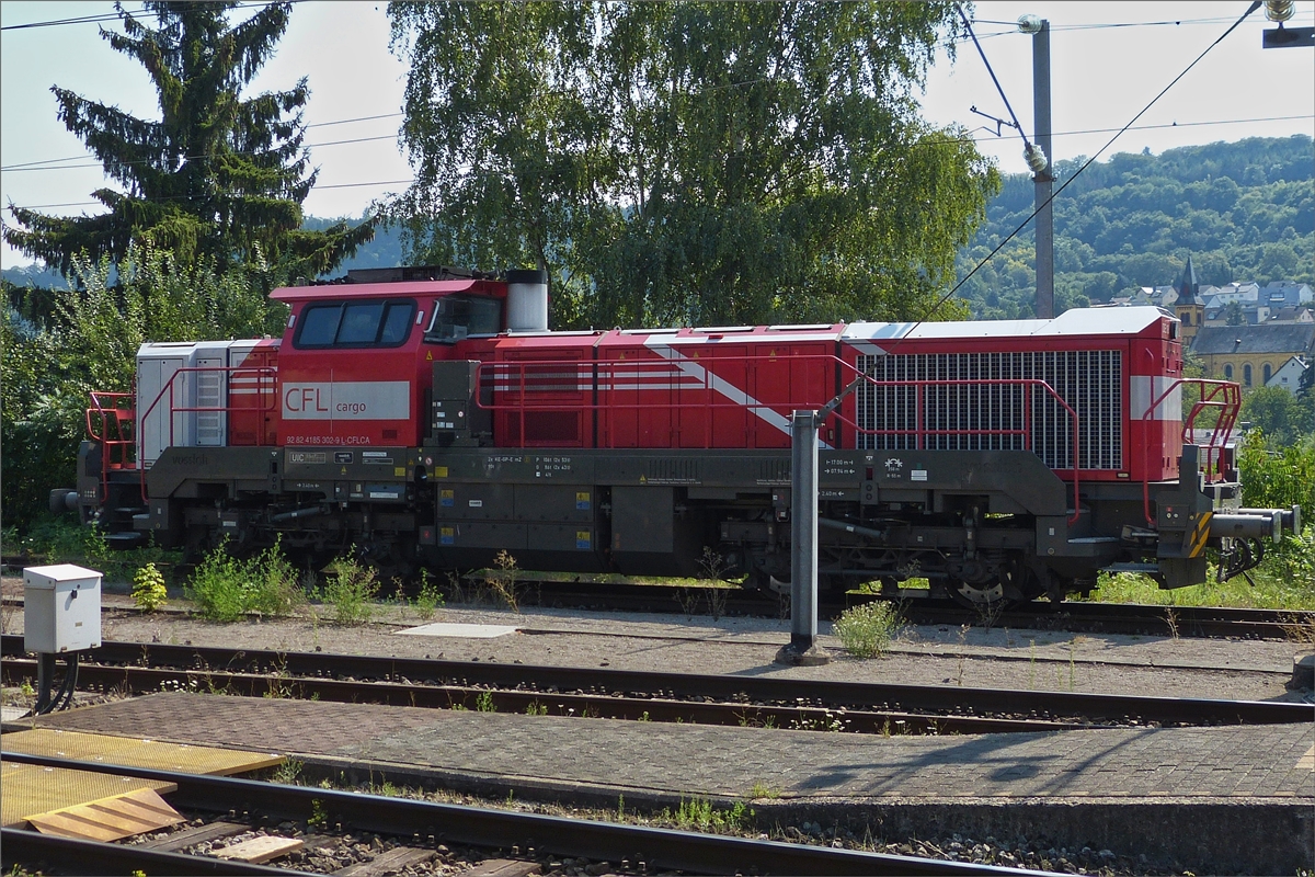
<svg viewBox="0 0 1315 877">
<path fill-rule="evenodd" d="M 548 270 L 558 327 L 922 317 L 998 185 L 917 114 L 948 3 L 388 12 L 387 218 L 417 260 Z"/>
</svg>

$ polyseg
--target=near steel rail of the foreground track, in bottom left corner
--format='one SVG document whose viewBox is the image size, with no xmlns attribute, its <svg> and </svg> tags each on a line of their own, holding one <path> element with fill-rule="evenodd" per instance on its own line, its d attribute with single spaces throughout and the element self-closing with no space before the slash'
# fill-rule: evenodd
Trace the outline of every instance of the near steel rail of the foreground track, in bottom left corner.
<svg viewBox="0 0 1315 877">
<path fill-rule="evenodd" d="M 5 753 L 5 760 L 16 756 Z M 68 767 L 64 763 L 63 767 Z M 82 765 L 79 765 L 82 769 Z M 159 852 L 146 847 L 109 844 L 99 840 L 80 840 L 59 835 L 43 835 L 22 828 L 0 828 L 0 868 L 12 873 L 22 865 L 32 870 L 53 869 L 64 874 L 264 874 L 266 877 L 295 877 L 310 872 L 252 865 L 231 859 L 188 856 Z"/>
</svg>

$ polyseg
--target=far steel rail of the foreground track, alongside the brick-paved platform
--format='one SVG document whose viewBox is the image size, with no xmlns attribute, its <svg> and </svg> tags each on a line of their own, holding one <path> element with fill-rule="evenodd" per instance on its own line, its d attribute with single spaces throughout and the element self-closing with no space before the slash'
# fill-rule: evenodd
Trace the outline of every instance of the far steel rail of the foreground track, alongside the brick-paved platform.
<svg viewBox="0 0 1315 877">
<path fill-rule="evenodd" d="M 434 838 L 434 843 L 547 851 L 600 861 L 643 861 L 650 869 L 673 868 L 704 874 L 1036 874 L 1034 870 L 968 863 L 892 856 L 886 853 L 810 847 L 723 835 L 702 835 L 669 828 L 622 826 L 586 819 L 485 810 L 460 805 L 391 798 L 234 780 L 231 777 L 174 773 L 100 761 L 71 761 L 49 756 L 0 752 L 5 761 L 75 768 L 172 782 L 170 799 L 204 811 L 227 810 L 305 820 L 323 815 L 330 824 L 400 838 Z M 318 805 L 317 805 L 318 802 Z M 318 807 L 318 809 L 317 809 Z M 8 838 L 8 835 L 7 835 Z M 7 844 L 8 848 L 8 844 Z"/>
</svg>

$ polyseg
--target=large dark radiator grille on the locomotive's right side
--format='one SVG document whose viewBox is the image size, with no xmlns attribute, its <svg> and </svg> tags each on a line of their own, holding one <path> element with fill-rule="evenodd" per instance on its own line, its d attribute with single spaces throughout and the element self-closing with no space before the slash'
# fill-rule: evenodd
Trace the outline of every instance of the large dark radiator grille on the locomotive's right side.
<svg viewBox="0 0 1315 877">
<path fill-rule="evenodd" d="M 878 381 L 1043 380 L 1078 415 L 1078 464 L 1084 469 L 1123 468 L 1123 356 L 1116 350 L 1066 350 L 1001 354 L 860 355 L 860 369 Z M 1052 469 L 1073 468 L 1073 423 L 1040 387 L 968 384 L 873 387 L 857 391 L 859 426 L 899 430 L 890 435 L 859 434 L 857 447 L 939 451 L 1027 448 L 1024 435 L 989 430 L 1028 430 L 1032 451 Z M 1031 423 L 1024 423 L 1024 398 L 1031 394 Z M 905 431 L 906 430 L 906 431 Z M 953 434 L 936 434 L 938 430 Z"/>
</svg>

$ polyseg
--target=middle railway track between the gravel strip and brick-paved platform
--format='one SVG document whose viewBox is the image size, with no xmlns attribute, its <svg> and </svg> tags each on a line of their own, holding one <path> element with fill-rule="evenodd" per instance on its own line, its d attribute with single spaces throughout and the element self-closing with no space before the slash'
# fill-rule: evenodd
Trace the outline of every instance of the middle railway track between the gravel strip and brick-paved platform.
<svg viewBox="0 0 1315 877">
<path fill-rule="evenodd" d="M 34 678 L 22 638 L 5 676 Z M 989 734 L 1136 724 L 1308 722 L 1302 703 L 888 685 L 104 643 L 79 667 L 99 690 L 226 692 L 392 706 L 755 724 L 860 734 Z"/>
</svg>

